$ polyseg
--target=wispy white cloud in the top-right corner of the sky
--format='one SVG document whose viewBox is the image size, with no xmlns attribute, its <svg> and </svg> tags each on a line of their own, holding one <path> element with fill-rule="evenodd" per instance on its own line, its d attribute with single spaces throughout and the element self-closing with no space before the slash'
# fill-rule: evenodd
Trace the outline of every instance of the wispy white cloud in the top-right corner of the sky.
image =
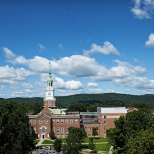
<svg viewBox="0 0 154 154">
<path fill-rule="evenodd" d="M 151 18 L 154 11 L 154 0 L 133 0 L 134 7 L 131 12 L 138 19 Z"/>
</svg>

